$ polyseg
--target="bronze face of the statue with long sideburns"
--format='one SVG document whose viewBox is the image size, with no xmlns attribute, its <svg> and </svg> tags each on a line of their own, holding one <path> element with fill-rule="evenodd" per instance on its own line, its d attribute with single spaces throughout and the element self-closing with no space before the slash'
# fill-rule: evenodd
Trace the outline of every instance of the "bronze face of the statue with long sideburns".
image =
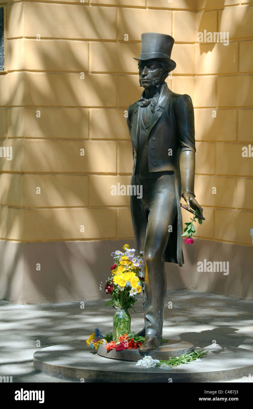
<svg viewBox="0 0 253 409">
<path fill-rule="evenodd" d="M 151 88 L 163 81 L 163 70 L 159 61 L 139 61 L 140 85 L 143 88 Z"/>
</svg>

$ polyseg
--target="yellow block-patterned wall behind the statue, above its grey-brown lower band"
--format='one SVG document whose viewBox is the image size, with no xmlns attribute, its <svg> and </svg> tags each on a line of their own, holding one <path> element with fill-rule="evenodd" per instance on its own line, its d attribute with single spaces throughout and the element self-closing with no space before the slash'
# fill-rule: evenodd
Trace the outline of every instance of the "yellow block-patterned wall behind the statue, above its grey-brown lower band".
<svg viewBox="0 0 253 409">
<path fill-rule="evenodd" d="M 0 138 L 13 147 L 11 161 L 0 158 L 0 239 L 133 237 L 129 197 L 111 196 L 111 185 L 130 183 L 124 110 L 142 92 L 132 57 L 141 33 L 155 31 L 175 38 L 169 88 L 194 102 L 199 237 L 251 245 L 253 157 L 242 147 L 253 146 L 253 1 L 0 3 Z M 205 29 L 229 31 L 229 45 L 199 44 Z"/>
</svg>

